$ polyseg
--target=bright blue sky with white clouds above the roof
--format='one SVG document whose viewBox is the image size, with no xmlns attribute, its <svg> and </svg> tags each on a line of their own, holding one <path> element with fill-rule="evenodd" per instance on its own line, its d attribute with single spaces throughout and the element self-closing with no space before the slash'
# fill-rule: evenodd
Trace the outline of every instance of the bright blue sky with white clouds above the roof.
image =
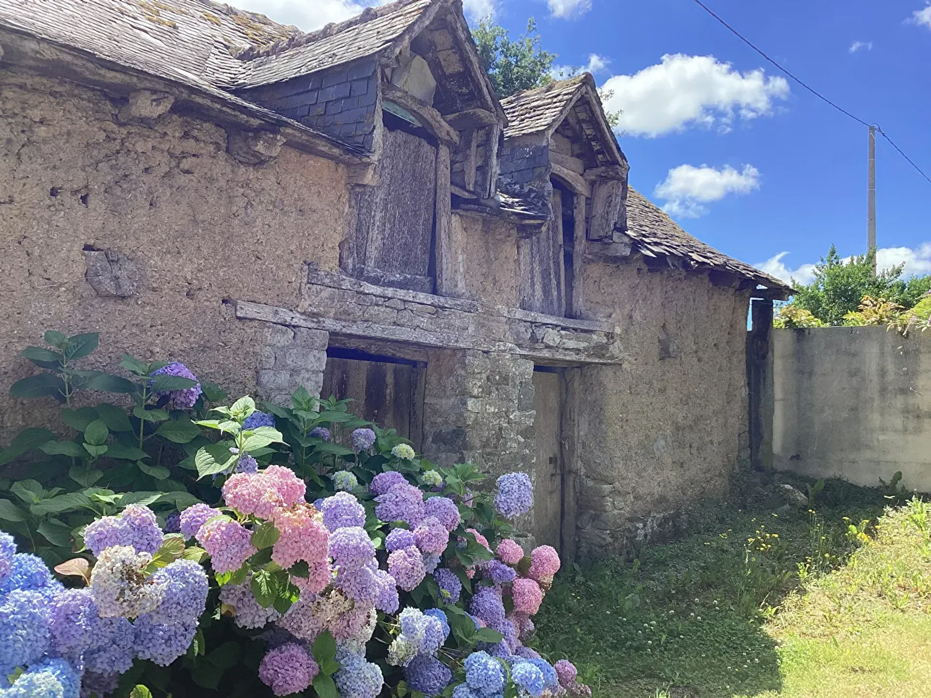
<svg viewBox="0 0 931 698">
<path fill-rule="evenodd" d="M 879 124 L 931 174 L 926 0 L 705 1 L 789 71 Z M 234 4 L 309 30 L 373 0 Z M 832 243 L 843 255 L 864 251 L 867 128 L 780 77 L 692 0 L 465 5 L 473 17 L 493 12 L 512 35 L 533 16 L 557 63 L 596 69 L 614 91 L 609 107 L 625 112 L 618 135 L 631 184 L 692 235 L 803 280 Z M 882 138 L 876 158 L 880 264 L 931 272 L 931 182 Z"/>
</svg>

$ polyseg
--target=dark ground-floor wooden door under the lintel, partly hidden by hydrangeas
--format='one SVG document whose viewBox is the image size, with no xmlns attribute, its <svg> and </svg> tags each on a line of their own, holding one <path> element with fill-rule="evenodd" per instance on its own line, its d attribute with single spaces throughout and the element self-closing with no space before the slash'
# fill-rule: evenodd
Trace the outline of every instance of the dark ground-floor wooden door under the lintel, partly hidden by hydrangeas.
<svg viewBox="0 0 931 698">
<path fill-rule="evenodd" d="M 321 397 L 350 397 L 349 411 L 385 429 L 397 429 L 421 448 L 423 438 L 423 369 L 409 363 L 327 358 Z"/>
</svg>

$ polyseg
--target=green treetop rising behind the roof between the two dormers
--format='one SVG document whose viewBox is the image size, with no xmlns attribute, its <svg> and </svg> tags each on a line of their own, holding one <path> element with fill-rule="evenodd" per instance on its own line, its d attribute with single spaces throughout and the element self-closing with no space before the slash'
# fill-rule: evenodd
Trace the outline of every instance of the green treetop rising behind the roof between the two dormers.
<svg viewBox="0 0 931 698">
<path fill-rule="evenodd" d="M 479 20 L 472 28 L 472 36 L 479 48 L 479 60 L 500 99 L 552 80 L 549 72 L 556 54 L 543 49 L 533 17 L 527 20 L 527 32 L 516 41 L 491 17 Z"/>
</svg>

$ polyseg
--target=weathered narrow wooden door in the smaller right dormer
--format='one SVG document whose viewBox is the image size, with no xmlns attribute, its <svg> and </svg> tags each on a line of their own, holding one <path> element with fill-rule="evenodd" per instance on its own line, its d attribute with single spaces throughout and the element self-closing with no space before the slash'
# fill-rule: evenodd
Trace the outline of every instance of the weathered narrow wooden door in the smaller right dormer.
<svg viewBox="0 0 931 698">
<path fill-rule="evenodd" d="M 562 262 L 562 193 L 553 190 L 553 220 L 518 240 L 520 307 L 534 313 L 565 315 Z M 572 206 L 572 202 L 569 202 Z"/>
</svg>

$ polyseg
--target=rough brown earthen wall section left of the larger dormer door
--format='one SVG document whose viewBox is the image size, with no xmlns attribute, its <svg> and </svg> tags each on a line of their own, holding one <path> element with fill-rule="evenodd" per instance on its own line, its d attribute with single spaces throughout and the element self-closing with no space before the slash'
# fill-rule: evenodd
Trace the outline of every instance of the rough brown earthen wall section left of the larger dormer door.
<svg viewBox="0 0 931 698">
<path fill-rule="evenodd" d="M 97 367 L 177 359 L 243 393 L 263 328 L 223 300 L 293 307 L 305 260 L 338 269 L 343 166 L 289 148 L 243 165 L 222 128 L 175 111 L 125 124 L 125 106 L 0 64 L 0 443 L 38 416 L 7 390 L 33 372 L 17 355 L 43 330 L 100 331 Z M 131 262 L 138 289 L 91 288 L 99 250 L 110 269 Z"/>
</svg>

